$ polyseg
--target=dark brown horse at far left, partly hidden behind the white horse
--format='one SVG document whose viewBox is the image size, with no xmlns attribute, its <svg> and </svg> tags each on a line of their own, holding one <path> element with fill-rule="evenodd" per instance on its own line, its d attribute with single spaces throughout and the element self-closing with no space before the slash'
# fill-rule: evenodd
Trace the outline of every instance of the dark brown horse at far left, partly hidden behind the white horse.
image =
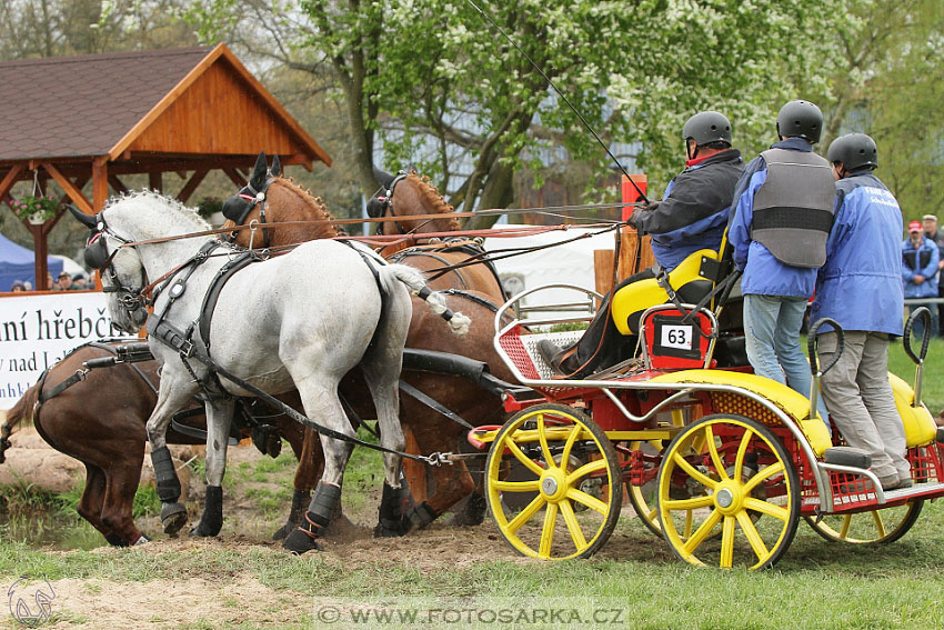
<svg viewBox="0 0 944 630">
<path fill-rule="evenodd" d="M 38 402 L 41 392 L 49 392 L 81 371 L 84 362 L 113 357 L 109 348 L 127 343 L 125 340 L 82 346 L 56 363 L 8 411 L 0 433 L 6 442 L 19 423 L 32 417 L 43 440 L 86 464 L 86 488 L 79 501 L 79 514 L 111 544 L 120 547 L 148 540 L 134 524 L 132 506 L 148 440 L 144 423 L 158 400 L 158 362 L 149 360 L 93 369 L 83 380 L 40 404 Z M 280 399 L 297 410 L 301 409 L 295 392 Z M 202 406 L 194 404 L 194 409 L 200 410 L 200 416 L 189 418 L 187 422 L 199 428 L 200 422 L 205 421 Z M 302 426 L 284 416 L 269 421 L 289 441 L 295 456 L 301 456 Z M 171 429 L 168 442 L 195 444 L 203 443 L 203 440 Z M 4 446 L 0 446 L 0 461 L 3 449 Z M 317 470 L 314 472 L 318 473 Z M 312 472 L 307 470 L 305 474 Z M 299 484 L 304 482 L 298 479 L 297 490 L 302 490 Z"/>
</svg>

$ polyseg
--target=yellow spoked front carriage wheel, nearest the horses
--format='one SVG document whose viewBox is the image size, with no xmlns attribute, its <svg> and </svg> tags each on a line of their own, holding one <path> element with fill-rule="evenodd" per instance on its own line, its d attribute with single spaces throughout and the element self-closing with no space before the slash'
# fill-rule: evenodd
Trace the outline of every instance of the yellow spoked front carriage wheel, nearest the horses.
<svg viewBox="0 0 944 630">
<path fill-rule="evenodd" d="M 505 480 L 511 462 L 524 479 Z M 515 496 L 532 497 L 523 508 Z M 544 403 L 515 413 L 485 462 L 485 497 L 499 531 L 519 553 L 589 558 L 613 533 L 622 506 L 620 463 L 606 433 L 583 412 Z"/>
</svg>

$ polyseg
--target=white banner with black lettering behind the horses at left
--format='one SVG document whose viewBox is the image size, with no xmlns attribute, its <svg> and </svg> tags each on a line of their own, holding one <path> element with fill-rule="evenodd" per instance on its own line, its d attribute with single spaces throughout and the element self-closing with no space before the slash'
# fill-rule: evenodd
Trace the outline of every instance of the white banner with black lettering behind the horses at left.
<svg viewBox="0 0 944 630">
<path fill-rule="evenodd" d="M 119 336 L 104 293 L 0 299 L 0 409 L 10 409 L 43 370 L 87 341 Z"/>
</svg>

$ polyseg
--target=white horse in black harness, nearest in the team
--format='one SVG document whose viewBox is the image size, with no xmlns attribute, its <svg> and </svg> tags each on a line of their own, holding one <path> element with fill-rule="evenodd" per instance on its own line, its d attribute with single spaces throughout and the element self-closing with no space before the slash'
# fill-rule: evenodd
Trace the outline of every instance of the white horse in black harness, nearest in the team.
<svg viewBox="0 0 944 630">
<path fill-rule="evenodd" d="M 148 319 L 142 289 L 180 267 L 160 284 L 148 321 L 151 351 L 162 363 L 158 403 L 147 430 L 165 532 L 175 533 L 187 521 L 185 508 L 179 502 L 180 482 L 164 439 L 171 417 L 193 396 L 204 401 L 207 503 L 191 534 L 215 536 L 222 527 L 221 484 L 232 397 L 253 396 L 232 380 L 214 376 L 195 359 L 198 356 L 209 356 L 220 373 L 264 392 L 298 389 L 308 419 L 349 437 L 354 431 L 339 401 L 338 383 L 360 363 L 376 406 L 381 446 L 390 451 L 403 450 L 398 379 L 412 317 L 410 291 L 421 296 L 429 291 L 415 270 L 386 264 L 366 248 L 359 253 L 338 241 L 307 242 L 231 276 L 219 292 L 209 339 L 203 339 L 199 319 L 205 317 L 201 313 L 204 296 L 233 251 L 221 244 L 201 262 L 187 263 L 218 241 L 197 237 L 128 243 L 203 231 L 210 228 L 205 221 L 175 200 L 151 192 L 112 200 L 94 217 L 77 210 L 73 214 L 92 230 L 86 260 L 102 270 L 109 311 L 122 330 L 140 330 Z M 435 312 L 445 309 L 445 301 L 436 293 L 426 302 Z M 450 327 L 462 333 L 468 323 L 468 318 L 455 313 Z M 160 339 L 171 340 L 171 344 Z M 190 342 L 195 352 L 188 356 Z M 324 473 L 312 497 L 307 524 L 284 543 L 295 552 L 317 548 L 314 539 L 340 499 L 344 467 L 353 448 L 323 433 L 321 442 Z M 402 533 L 394 522 L 401 517 L 401 458 L 384 452 L 383 461 L 381 524 L 384 533 Z"/>
</svg>

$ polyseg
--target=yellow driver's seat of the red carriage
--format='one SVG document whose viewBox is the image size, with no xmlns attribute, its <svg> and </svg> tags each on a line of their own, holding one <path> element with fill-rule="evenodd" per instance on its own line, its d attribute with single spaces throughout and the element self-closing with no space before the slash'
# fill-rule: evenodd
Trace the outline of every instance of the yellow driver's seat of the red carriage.
<svg viewBox="0 0 944 630">
<path fill-rule="evenodd" d="M 723 266 L 717 251 L 702 249 L 689 254 L 675 269 L 669 272 L 669 286 L 675 291 L 679 301 L 696 304 L 711 292 L 714 283 L 721 280 Z M 611 312 L 616 329 L 622 334 L 639 334 L 642 313 L 659 304 L 672 302 L 663 283 L 656 278 L 646 278 L 626 284 L 613 294 Z"/>
</svg>

